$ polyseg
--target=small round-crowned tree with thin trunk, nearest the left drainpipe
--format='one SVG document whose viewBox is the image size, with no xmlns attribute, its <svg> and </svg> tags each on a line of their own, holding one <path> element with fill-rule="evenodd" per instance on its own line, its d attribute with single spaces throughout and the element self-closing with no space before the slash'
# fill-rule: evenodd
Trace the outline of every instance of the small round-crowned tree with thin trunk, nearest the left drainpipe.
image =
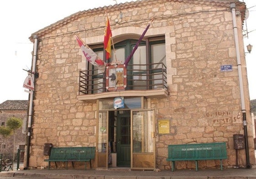
<svg viewBox="0 0 256 179">
<path fill-rule="evenodd" d="M 13 159 L 15 158 L 15 145 L 16 145 L 16 130 L 22 127 L 22 119 L 16 117 L 10 117 L 6 120 L 6 128 L 10 128 L 14 133 L 14 142 L 13 142 Z"/>
</svg>

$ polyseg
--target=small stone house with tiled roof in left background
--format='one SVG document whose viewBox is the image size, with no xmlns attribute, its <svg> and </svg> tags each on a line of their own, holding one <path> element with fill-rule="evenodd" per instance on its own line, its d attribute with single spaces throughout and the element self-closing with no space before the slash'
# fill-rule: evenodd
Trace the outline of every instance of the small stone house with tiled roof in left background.
<svg viewBox="0 0 256 179">
<path fill-rule="evenodd" d="M 3 158 L 13 159 L 14 148 L 15 152 L 17 152 L 18 148 L 25 149 L 27 109 L 27 100 L 7 100 L 0 104 L 0 125 L 5 126 L 6 120 L 10 117 L 21 118 L 23 121 L 22 128 L 16 131 L 15 146 L 14 135 L 5 139 L 0 135 L 0 153 L 3 153 Z M 21 159 L 23 159 L 23 157 Z"/>
</svg>

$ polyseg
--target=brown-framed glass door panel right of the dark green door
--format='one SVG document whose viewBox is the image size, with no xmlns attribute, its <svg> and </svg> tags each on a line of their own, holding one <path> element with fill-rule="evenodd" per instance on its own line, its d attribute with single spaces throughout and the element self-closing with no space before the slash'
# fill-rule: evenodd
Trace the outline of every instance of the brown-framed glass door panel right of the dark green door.
<svg viewBox="0 0 256 179">
<path fill-rule="evenodd" d="M 131 169 L 155 169 L 154 110 L 132 110 Z"/>
</svg>

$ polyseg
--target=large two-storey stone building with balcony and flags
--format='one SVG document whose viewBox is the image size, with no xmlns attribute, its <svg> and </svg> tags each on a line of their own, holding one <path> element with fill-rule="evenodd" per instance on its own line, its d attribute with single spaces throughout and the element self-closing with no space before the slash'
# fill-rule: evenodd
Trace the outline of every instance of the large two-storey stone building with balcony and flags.
<svg viewBox="0 0 256 179">
<path fill-rule="evenodd" d="M 47 166 L 44 143 L 95 146 L 94 168 L 170 169 L 169 144 L 225 142 L 223 164 L 232 167 L 234 134 L 248 140 L 238 150 L 239 165 L 254 165 L 245 10 L 238 0 L 138 0 L 79 11 L 31 34 L 39 77 L 25 166 Z M 115 43 L 110 60 L 103 45 L 106 12 Z M 106 62 L 104 72 L 85 60 L 74 35 Z M 177 165 L 194 167 L 193 161 Z M 219 167 L 219 161 L 199 167 Z"/>
</svg>

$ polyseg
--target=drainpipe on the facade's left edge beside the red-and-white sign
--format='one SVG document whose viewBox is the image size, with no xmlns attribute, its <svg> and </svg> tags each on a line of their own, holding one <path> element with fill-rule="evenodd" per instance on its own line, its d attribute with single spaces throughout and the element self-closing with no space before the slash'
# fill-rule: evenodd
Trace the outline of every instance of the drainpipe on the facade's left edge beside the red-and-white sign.
<svg viewBox="0 0 256 179">
<path fill-rule="evenodd" d="M 32 82 L 35 82 L 35 71 L 36 71 L 36 60 L 37 60 L 37 35 L 34 35 L 34 51 L 33 51 L 33 63 L 32 63 Z M 28 112 L 28 123 L 27 123 L 27 152 L 26 152 L 26 168 L 29 167 L 29 149 L 30 149 L 30 136 L 31 136 L 31 118 L 32 118 L 32 107 L 33 107 L 33 94 L 34 91 L 30 90 L 29 96 L 29 112 Z"/>
</svg>

